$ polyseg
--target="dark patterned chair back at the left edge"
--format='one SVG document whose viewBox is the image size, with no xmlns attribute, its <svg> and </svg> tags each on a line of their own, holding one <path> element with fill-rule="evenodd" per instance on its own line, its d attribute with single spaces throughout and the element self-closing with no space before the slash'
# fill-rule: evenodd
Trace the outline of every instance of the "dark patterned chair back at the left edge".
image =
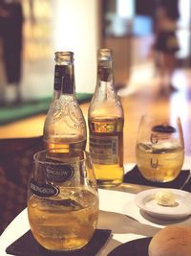
<svg viewBox="0 0 191 256">
<path fill-rule="evenodd" d="M 32 157 L 42 149 L 42 136 L 0 139 L 0 234 L 27 206 Z"/>
</svg>

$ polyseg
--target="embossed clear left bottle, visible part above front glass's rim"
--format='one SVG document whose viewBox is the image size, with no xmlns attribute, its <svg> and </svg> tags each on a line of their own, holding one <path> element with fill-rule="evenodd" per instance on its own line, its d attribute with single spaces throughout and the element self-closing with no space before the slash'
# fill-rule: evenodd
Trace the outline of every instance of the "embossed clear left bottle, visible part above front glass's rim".
<svg viewBox="0 0 191 256">
<path fill-rule="evenodd" d="M 74 53 L 56 52 L 54 59 L 54 97 L 44 124 L 45 147 L 85 150 L 87 130 L 75 95 Z"/>
</svg>

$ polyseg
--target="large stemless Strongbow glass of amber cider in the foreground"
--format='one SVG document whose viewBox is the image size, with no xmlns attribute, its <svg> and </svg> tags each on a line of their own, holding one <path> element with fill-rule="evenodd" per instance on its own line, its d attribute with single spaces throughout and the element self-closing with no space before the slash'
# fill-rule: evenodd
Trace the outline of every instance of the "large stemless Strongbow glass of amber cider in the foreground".
<svg viewBox="0 0 191 256">
<path fill-rule="evenodd" d="M 98 219 L 96 177 L 86 151 L 38 151 L 28 187 L 33 237 L 52 251 L 71 251 L 91 240 Z"/>
</svg>

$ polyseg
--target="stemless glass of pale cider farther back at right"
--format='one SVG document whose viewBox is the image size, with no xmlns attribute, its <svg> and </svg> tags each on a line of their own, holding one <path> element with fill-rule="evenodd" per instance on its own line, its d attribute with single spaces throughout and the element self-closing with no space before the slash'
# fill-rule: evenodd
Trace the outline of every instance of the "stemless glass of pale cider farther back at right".
<svg viewBox="0 0 191 256">
<path fill-rule="evenodd" d="M 174 180 L 180 174 L 184 159 L 180 117 L 142 116 L 136 156 L 138 169 L 146 179 Z"/>
</svg>

